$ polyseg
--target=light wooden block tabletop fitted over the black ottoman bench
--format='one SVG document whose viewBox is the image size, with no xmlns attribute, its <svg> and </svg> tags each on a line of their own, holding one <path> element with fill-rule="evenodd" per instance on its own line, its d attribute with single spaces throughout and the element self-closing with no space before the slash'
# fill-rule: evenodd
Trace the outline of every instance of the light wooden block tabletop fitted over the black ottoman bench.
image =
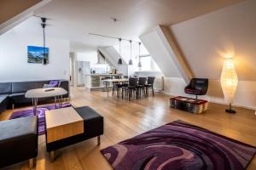
<svg viewBox="0 0 256 170">
<path fill-rule="evenodd" d="M 73 107 L 46 111 L 45 122 L 47 144 L 84 133 L 84 119 Z M 54 151 L 50 151 L 51 161 L 54 157 Z"/>
</svg>

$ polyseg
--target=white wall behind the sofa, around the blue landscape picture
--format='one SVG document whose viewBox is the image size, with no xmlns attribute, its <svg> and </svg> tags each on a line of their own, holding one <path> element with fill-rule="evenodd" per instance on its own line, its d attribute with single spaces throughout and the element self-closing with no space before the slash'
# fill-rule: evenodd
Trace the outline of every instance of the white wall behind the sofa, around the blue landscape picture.
<svg viewBox="0 0 256 170">
<path fill-rule="evenodd" d="M 0 82 L 67 79 L 69 77 L 69 42 L 46 37 L 49 64 L 28 64 L 27 46 L 41 46 L 43 38 L 9 31 L 0 36 Z"/>
</svg>

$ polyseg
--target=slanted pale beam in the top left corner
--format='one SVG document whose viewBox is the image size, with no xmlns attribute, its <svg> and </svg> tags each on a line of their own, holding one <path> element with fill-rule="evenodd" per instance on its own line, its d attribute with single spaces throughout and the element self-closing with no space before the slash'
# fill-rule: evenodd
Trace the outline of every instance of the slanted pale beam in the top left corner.
<svg viewBox="0 0 256 170">
<path fill-rule="evenodd" d="M 31 8 L 27 8 L 20 14 L 15 15 L 13 18 L 3 22 L 0 25 L 0 35 L 4 32 L 9 31 L 10 29 L 14 28 L 15 26 L 19 25 L 24 20 L 28 19 L 33 15 L 33 11 L 44 6 L 46 3 L 49 3 L 52 0 L 43 0 L 40 3 L 33 5 Z"/>
</svg>

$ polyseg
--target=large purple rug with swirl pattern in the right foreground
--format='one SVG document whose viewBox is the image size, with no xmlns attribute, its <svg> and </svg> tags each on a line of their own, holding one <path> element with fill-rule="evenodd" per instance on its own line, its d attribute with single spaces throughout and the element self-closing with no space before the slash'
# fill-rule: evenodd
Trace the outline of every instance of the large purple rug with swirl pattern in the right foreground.
<svg viewBox="0 0 256 170">
<path fill-rule="evenodd" d="M 242 170 L 256 148 L 176 121 L 101 150 L 115 170 Z"/>
</svg>

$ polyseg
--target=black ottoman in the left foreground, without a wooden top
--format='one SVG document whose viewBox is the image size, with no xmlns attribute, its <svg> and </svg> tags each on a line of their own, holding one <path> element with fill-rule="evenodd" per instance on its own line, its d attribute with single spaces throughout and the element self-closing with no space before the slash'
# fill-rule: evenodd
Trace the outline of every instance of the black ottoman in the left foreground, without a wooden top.
<svg viewBox="0 0 256 170">
<path fill-rule="evenodd" d="M 0 122 L 0 167 L 38 156 L 38 116 Z"/>
</svg>

